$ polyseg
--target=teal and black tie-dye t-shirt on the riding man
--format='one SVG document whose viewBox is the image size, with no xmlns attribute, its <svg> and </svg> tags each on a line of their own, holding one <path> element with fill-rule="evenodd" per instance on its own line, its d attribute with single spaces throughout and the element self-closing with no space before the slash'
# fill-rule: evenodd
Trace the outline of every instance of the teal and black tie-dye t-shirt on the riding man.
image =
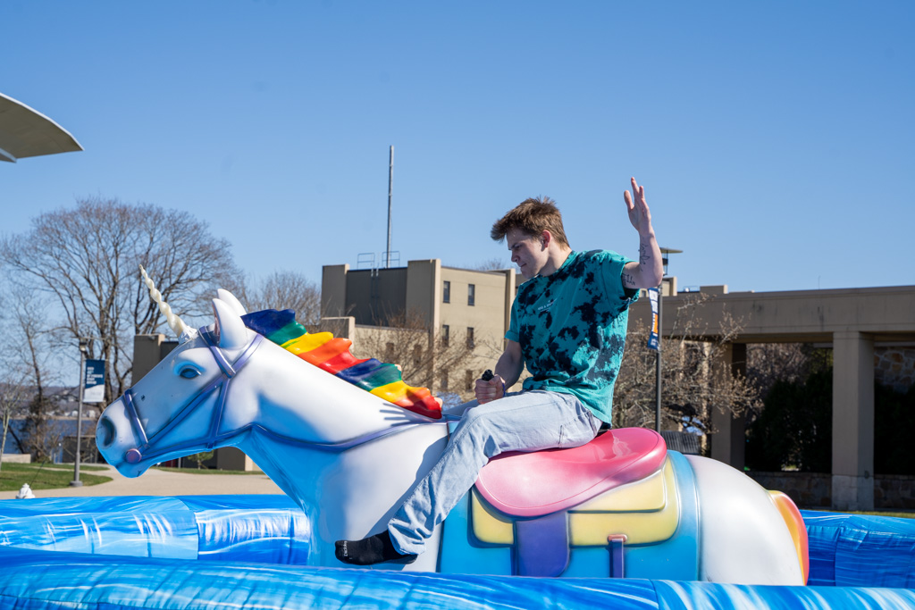
<svg viewBox="0 0 915 610">
<path fill-rule="evenodd" d="M 554 273 L 521 285 L 505 338 L 521 344 L 532 375 L 524 390 L 575 394 L 610 423 L 629 305 L 639 294 L 623 288 L 627 262 L 613 251 L 573 251 Z"/>
</svg>

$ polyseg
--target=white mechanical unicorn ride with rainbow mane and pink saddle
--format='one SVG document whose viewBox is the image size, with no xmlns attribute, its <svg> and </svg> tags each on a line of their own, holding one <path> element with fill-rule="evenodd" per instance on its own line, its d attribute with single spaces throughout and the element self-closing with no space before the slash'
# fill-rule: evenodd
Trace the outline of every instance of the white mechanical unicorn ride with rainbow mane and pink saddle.
<svg viewBox="0 0 915 610">
<path fill-rule="evenodd" d="M 180 344 L 105 410 L 102 455 L 140 476 L 237 446 L 307 514 L 308 564 L 342 567 L 334 540 L 383 530 L 444 450 L 440 402 L 393 365 L 354 359 L 348 339 L 308 334 L 289 310 L 246 314 L 223 290 L 214 324 L 195 331 L 144 277 Z M 803 584 L 808 573 L 791 499 L 636 428 L 494 458 L 428 548 L 413 564 L 376 567 L 751 584 Z"/>
</svg>

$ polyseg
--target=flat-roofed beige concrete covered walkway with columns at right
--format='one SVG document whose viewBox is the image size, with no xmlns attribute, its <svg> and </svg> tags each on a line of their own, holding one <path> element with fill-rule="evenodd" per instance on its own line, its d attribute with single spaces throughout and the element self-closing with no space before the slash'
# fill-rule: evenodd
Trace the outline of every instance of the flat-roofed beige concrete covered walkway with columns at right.
<svg viewBox="0 0 915 610">
<path fill-rule="evenodd" d="M 915 286 L 791 291 L 713 292 L 699 310 L 700 326 L 714 332 L 726 312 L 742 321 L 729 349 L 732 366 L 746 370 L 747 344 L 818 343 L 833 348 L 833 508 L 874 507 L 874 348 L 915 345 Z M 664 297 L 664 310 L 688 294 Z M 630 324 L 649 319 L 647 299 L 633 306 Z M 670 318 L 672 316 L 668 316 Z M 662 320 L 662 335 L 673 320 Z M 744 423 L 713 413 L 712 457 L 744 466 Z"/>
</svg>

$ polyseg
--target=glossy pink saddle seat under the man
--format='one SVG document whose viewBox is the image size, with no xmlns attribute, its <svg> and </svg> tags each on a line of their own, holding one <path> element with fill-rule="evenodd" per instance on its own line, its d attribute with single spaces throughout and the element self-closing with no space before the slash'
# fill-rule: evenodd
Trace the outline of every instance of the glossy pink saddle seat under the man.
<svg viewBox="0 0 915 610">
<path fill-rule="evenodd" d="M 619 428 L 573 449 L 497 455 L 479 471 L 477 491 L 503 513 L 541 517 L 649 476 L 666 455 L 661 434 Z"/>
</svg>

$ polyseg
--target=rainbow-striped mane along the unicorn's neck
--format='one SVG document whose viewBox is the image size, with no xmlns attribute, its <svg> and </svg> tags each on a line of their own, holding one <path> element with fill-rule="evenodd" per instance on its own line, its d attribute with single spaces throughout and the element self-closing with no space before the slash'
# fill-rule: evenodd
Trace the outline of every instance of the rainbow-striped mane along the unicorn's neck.
<svg viewBox="0 0 915 610">
<path fill-rule="evenodd" d="M 441 419 L 442 405 L 426 388 L 404 383 L 401 371 L 378 359 L 357 359 L 350 353 L 352 341 L 331 333 L 309 333 L 296 322 L 292 309 L 264 309 L 242 316 L 244 326 L 292 352 L 300 359 L 326 370 L 341 380 L 371 392 L 409 411 Z"/>
</svg>

